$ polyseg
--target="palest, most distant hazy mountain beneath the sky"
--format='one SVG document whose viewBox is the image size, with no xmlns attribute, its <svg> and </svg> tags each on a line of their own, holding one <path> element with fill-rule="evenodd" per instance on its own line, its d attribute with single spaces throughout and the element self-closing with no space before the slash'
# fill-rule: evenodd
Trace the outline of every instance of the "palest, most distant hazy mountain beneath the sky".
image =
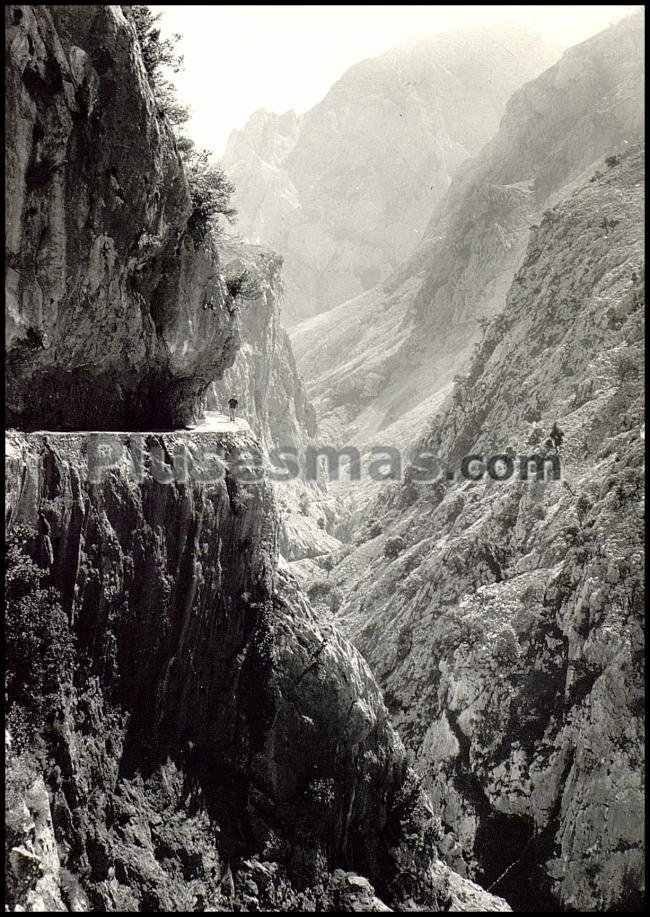
<svg viewBox="0 0 650 917">
<path fill-rule="evenodd" d="M 224 164 L 240 225 L 285 259 L 288 326 L 413 251 L 508 97 L 552 60 L 514 28 L 440 35 L 355 65 L 299 119 L 260 111 L 233 132 Z"/>
</svg>

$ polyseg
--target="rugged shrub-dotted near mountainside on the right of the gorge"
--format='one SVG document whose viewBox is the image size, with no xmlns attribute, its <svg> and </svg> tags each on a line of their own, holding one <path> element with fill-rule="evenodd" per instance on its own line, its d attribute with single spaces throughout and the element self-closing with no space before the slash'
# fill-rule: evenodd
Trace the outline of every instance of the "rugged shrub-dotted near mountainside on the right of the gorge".
<svg viewBox="0 0 650 917">
<path fill-rule="evenodd" d="M 447 861 L 522 909 L 643 895 L 642 213 L 637 149 L 544 214 L 421 439 L 458 475 L 557 422 L 561 480 L 407 475 L 330 574 Z"/>
</svg>

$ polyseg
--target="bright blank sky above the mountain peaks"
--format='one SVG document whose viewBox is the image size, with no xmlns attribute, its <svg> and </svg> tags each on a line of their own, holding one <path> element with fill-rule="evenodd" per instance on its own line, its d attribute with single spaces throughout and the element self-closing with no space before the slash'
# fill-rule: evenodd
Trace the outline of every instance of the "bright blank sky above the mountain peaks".
<svg viewBox="0 0 650 917">
<path fill-rule="evenodd" d="M 636 6 L 152 6 L 164 34 L 180 32 L 174 77 L 192 111 L 187 132 L 223 152 L 258 108 L 307 111 L 352 64 L 413 37 L 482 23 L 518 23 L 558 49 Z"/>
</svg>

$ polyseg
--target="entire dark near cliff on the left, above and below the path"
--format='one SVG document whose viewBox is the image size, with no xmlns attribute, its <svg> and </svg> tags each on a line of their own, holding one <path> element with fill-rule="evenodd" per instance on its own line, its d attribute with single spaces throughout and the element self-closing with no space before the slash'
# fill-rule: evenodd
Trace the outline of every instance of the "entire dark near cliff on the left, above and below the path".
<svg viewBox="0 0 650 917">
<path fill-rule="evenodd" d="M 368 666 L 281 561 L 284 430 L 255 397 L 259 439 L 173 429 L 228 370 L 310 420 L 281 332 L 238 358 L 274 306 L 240 321 L 188 235 L 132 25 L 6 15 L 8 906 L 506 910 L 439 860 Z"/>
</svg>

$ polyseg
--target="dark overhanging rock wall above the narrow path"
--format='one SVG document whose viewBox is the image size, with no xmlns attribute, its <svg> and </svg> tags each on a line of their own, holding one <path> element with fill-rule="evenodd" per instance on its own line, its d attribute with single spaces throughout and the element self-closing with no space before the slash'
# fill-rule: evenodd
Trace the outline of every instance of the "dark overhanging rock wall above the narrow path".
<svg viewBox="0 0 650 917">
<path fill-rule="evenodd" d="M 7 407 L 22 428 L 168 428 L 237 324 L 119 6 L 6 8 Z M 214 302 L 214 310 L 203 304 Z"/>
</svg>

